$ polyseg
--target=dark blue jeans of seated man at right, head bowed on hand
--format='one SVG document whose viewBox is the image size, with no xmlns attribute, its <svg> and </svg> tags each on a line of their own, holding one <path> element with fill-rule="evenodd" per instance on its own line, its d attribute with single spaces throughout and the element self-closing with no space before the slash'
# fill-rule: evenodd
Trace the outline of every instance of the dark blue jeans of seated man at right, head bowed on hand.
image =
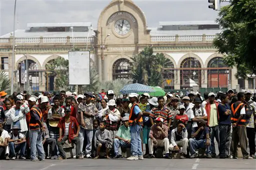
<svg viewBox="0 0 256 170">
<path fill-rule="evenodd" d="M 189 139 L 189 149 L 190 149 L 190 154 L 193 155 L 195 154 L 195 149 L 199 149 L 199 148 L 205 148 L 206 145 L 206 139 L 204 140 L 195 140 L 193 138 Z M 205 154 L 211 154 L 211 146 L 209 145 L 208 147 L 206 147 L 206 152 Z"/>
</svg>

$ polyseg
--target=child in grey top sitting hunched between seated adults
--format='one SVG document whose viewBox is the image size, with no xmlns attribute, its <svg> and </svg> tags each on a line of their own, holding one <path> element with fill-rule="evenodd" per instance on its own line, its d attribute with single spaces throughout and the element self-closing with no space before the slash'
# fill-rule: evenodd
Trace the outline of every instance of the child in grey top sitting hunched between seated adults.
<svg viewBox="0 0 256 170">
<path fill-rule="evenodd" d="M 113 142 L 112 142 L 110 132 L 105 129 L 104 123 L 100 122 L 99 123 L 99 129 L 95 132 L 95 136 L 94 136 L 94 146 L 97 149 L 96 157 L 94 159 L 99 158 L 99 152 L 100 152 L 101 148 L 103 150 L 105 150 L 106 158 L 110 159 L 109 149 L 111 148 L 112 143 Z"/>
</svg>

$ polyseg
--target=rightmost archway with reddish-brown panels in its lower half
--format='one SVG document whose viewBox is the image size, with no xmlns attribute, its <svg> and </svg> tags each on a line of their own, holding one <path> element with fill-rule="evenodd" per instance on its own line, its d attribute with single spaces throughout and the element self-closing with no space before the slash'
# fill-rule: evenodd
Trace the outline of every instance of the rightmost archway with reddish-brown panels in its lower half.
<svg viewBox="0 0 256 170">
<path fill-rule="evenodd" d="M 210 68 L 207 71 L 208 87 L 227 87 L 229 84 L 229 69 L 220 69 L 227 67 L 222 57 L 212 58 L 208 62 L 207 68 Z"/>
</svg>

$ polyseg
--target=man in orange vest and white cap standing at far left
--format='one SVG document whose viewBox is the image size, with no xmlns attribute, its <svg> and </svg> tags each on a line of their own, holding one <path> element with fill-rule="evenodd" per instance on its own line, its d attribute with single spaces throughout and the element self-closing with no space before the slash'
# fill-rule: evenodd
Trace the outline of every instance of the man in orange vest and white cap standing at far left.
<svg viewBox="0 0 256 170">
<path fill-rule="evenodd" d="M 38 107 L 35 106 L 35 97 L 28 99 L 29 112 L 29 142 L 30 142 L 30 160 L 36 161 L 36 149 L 39 161 L 44 161 L 45 155 L 42 146 L 42 132 L 43 120 L 42 113 Z"/>
</svg>

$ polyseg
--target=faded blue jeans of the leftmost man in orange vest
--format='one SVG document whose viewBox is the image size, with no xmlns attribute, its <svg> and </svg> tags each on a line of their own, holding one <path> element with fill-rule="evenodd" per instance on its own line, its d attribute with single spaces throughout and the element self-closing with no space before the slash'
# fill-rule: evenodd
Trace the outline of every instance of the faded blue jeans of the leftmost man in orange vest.
<svg viewBox="0 0 256 170">
<path fill-rule="evenodd" d="M 44 160 L 44 151 L 42 147 L 42 131 L 40 129 L 37 130 L 29 130 L 29 142 L 30 142 L 30 159 L 36 159 L 36 150 L 38 153 L 38 157 L 40 160 Z"/>
</svg>

